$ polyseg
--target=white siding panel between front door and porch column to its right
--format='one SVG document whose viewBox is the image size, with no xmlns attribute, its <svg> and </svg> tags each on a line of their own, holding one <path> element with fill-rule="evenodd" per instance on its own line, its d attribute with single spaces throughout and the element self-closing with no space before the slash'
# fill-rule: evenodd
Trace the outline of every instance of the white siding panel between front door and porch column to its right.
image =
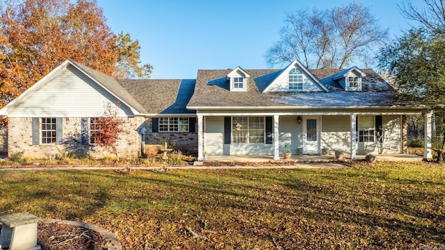
<svg viewBox="0 0 445 250">
<path fill-rule="evenodd" d="M 330 152 L 334 149 L 350 151 L 350 116 L 323 116 L 321 124 L 321 148 L 327 147 Z"/>
</svg>

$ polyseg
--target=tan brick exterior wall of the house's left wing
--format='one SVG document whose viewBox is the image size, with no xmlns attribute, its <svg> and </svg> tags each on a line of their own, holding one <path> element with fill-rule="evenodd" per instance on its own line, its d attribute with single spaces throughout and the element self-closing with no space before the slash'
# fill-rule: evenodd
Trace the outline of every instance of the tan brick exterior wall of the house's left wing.
<svg viewBox="0 0 445 250">
<path fill-rule="evenodd" d="M 118 140 L 120 158 L 140 156 L 141 135 L 138 128 L 145 127 L 145 146 L 161 144 L 163 141 L 175 143 L 176 149 L 184 153 L 197 152 L 197 133 L 152 133 L 152 120 L 144 117 L 124 118 L 124 133 Z M 196 126 L 196 124 L 195 124 Z M 32 143 L 32 118 L 9 117 L 8 155 L 23 151 L 28 158 L 54 158 L 72 151 L 74 156 L 88 158 L 115 157 L 103 147 L 81 144 L 81 117 L 63 117 L 63 144 Z"/>
</svg>

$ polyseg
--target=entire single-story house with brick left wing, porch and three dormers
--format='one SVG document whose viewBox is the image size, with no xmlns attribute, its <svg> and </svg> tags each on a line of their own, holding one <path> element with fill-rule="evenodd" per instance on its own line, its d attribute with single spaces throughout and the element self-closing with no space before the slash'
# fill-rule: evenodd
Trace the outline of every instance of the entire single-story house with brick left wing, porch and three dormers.
<svg viewBox="0 0 445 250">
<path fill-rule="evenodd" d="M 91 131 L 106 103 L 125 120 L 121 156 L 162 141 L 208 155 L 270 155 L 343 149 L 406 153 L 406 115 L 421 107 L 394 99 L 372 69 L 199 70 L 191 80 L 118 80 L 66 60 L 0 109 L 8 117 L 8 153 L 45 158 L 63 151 L 104 156 Z M 431 158 L 431 115 L 426 115 Z"/>
</svg>

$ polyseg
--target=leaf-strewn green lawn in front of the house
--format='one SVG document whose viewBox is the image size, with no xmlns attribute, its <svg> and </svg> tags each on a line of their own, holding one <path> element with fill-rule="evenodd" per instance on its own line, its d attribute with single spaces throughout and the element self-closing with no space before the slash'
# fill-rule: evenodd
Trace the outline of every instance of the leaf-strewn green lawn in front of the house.
<svg viewBox="0 0 445 250">
<path fill-rule="evenodd" d="M 420 249 L 445 244 L 444 197 L 427 163 L 0 172 L 0 212 L 102 226 L 124 249 Z"/>
</svg>

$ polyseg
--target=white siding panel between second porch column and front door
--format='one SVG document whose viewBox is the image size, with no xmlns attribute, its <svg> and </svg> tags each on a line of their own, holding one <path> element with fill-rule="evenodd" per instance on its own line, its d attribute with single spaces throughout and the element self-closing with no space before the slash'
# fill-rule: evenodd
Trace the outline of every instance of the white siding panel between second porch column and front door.
<svg viewBox="0 0 445 250">
<path fill-rule="evenodd" d="M 302 147 L 302 124 L 298 124 L 296 116 L 280 117 L 280 152 L 287 146 L 293 154 Z"/>
</svg>

